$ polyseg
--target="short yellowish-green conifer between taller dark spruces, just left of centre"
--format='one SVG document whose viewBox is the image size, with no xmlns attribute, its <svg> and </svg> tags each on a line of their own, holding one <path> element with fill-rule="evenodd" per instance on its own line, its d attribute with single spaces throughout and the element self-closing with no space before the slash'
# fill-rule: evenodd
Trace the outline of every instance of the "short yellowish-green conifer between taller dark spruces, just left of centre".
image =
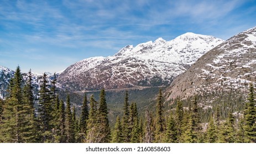
<svg viewBox="0 0 256 154">
<path fill-rule="evenodd" d="M 117 116 L 116 124 L 114 125 L 114 130 L 112 135 L 112 142 L 122 143 L 122 141 L 123 141 L 122 126 L 121 126 L 120 118 L 119 116 Z"/>
</svg>

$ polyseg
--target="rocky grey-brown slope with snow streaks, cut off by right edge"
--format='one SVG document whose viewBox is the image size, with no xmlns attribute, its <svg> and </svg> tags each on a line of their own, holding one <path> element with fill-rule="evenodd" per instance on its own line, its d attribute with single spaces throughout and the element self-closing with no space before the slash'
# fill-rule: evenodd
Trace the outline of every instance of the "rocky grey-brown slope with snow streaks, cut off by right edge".
<svg viewBox="0 0 256 154">
<path fill-rule="evenodd" d="M 256 83 L 256 27 L 229 38 L 179 75 L 166 92 L 168 100 L 202 92 L 247 92 Z"/>
</svg>

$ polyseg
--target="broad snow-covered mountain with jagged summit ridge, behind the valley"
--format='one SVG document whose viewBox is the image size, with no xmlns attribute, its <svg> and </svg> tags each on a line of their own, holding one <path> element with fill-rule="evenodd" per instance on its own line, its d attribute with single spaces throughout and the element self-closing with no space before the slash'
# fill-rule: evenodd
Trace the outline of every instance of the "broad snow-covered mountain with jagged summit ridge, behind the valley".
<svg viewBox="0 0 256 154">
<path fill-rule="evenodd" d="M 169 85 L 207 51 L 222 43 L 213 36 L 188 32 L 165 41 L 128 45 L 114 56 L 83 59 L 58 77 L 60 84 L 75 91 Z"/>
</svg>

